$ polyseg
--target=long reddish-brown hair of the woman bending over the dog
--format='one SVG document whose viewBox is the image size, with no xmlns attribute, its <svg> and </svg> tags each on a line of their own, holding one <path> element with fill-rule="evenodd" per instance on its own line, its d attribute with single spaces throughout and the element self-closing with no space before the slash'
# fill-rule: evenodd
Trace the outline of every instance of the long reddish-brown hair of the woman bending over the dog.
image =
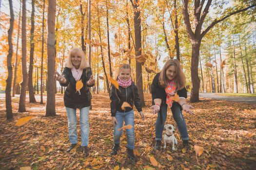
<svg viewBox="0 0 256 170">
<path fill-rule="evenodd" d="M 176 76 L 175 76 L 176 89 L 180 90 L 180 89 L 184 88 L 184 86 L 186 84 L 186 78 L 185 78 L 185 75 L 180 66 L 180 62 L 177 59 L 170 59 L 164 64 L 162 70 L 160 71 L 160 76 L 159 76 L 159 82 L 160 81 L 164 82 L 164 84 L 161 86 L 166 87 L 168 85 L 168 79 L 166 77 L 166 70 L 170 66 L 175 66 L 175 69 L 176 69 Z"/>
</svg>

